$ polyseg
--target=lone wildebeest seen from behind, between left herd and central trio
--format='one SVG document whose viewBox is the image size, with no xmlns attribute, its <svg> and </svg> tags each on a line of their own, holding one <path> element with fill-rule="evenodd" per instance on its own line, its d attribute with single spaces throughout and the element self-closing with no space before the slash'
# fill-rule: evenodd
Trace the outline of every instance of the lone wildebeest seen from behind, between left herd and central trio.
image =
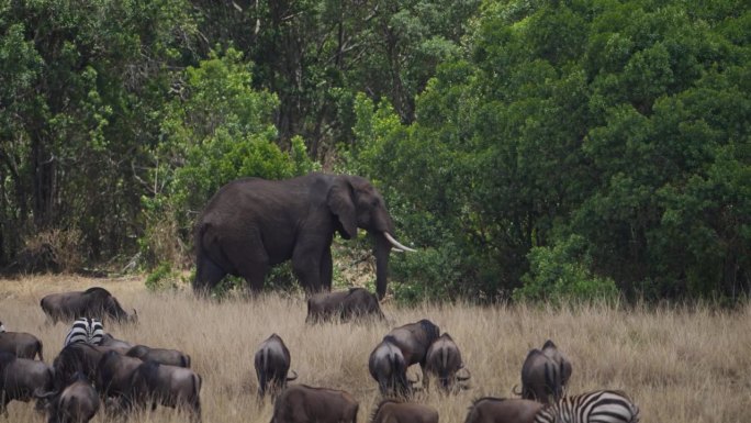
<svg viewBox="0 0 751 423">
<path fill-rule="evenodd" d="M 258 377 L 258 397 L 266 396 L 266 391 L 271 390 L 271 397 L 276 397 L 277 392 L 287 388 L 287 381 L 298 378 L 298 374 L 288 378 L 287 374 L 290 370 L 290 350 L 284 345 L 282 338 L 271 334 L 264 341 L 254 357 L 254 365 L 256 367 L 256 376 Z"/>
</svg>

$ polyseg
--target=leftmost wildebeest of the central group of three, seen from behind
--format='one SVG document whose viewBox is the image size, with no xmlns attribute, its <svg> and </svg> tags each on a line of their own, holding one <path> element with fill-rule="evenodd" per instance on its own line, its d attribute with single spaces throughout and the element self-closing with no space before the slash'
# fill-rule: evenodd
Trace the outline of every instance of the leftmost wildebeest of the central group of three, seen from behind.
<svg viewBox="0 0 751 423">
<path fill-rule="evenodd" d="M 408 397 L 412 386 L 406 377 L 406 361 L 393 336 L 385 336 L 368 359 L 370 376 L 378 382 L 382 396 Z"/>
</svg>

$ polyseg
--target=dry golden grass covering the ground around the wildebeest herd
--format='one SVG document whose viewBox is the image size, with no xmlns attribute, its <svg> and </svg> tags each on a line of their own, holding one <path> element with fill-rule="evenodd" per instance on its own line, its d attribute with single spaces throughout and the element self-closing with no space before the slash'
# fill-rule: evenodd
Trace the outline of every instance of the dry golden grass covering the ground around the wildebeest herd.
<svg viewBox="0 0 751 423">
<path fill-rule="evenodd" d="M 455 397 L 437 392 L 417 401 L 436 408 L 444 423 L 463 422 L 472 399 L 513 397 L 527 352 L 552 338 L 573 363 L 569 393 L 612 388 L 626 391 L 641 409 L 642 422 L 746 422 L 751 411 L 751 305 L 724 312 L 693 310 L 615 310 L 581 307 L 554 310 L 526 307 L 423 304 L 384 305 L 389 324 L 305 325 L 301 298 L 266 296 L 256 300 L 200 301 L 190 292 L 156 294 L 143 279 L 34 277 L 0 280 L 0 320 L 9 331 L 30 332 L 45 345 L 49 363 L 67 327 L 45 325 L 40 299 L 51 292 L 102 286 L 124 308 L 136 308 L 137 326 L 110 325 L 119 338 L 178 348 L 192 356 L 203 377 L 201 401 L 206 423 L 269 422 L 271 405 L 256 402 L 254 353 L 278 333 L 292 353 L 295 383 L 350 391 L 367 422 L 379 401 L 368 372 L 368 356 L 393 326 L 430 319 L 451 334 L 472 371 L 469 390 Z M 415 367 L 410 369 L 414 378 Z M 9 422 L 41 422 L 30 403 L 10 404 Z M 103 422 L 100 413 L 94 422 Z M 135 423 L 188 421 L 159 408 Z"/>
</svg>

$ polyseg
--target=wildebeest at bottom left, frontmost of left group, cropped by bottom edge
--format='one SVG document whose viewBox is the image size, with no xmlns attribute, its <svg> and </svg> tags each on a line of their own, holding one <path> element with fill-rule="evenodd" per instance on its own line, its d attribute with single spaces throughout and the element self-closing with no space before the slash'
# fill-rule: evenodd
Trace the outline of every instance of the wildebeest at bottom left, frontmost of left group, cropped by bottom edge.
<svg viewBox="0 0 751 423">
<path fill-rule="evenodd" d="M 35 397 L 47 401 L 47 423 L 88 423 L 99 411 L 97 391 L 80 372 L 63 391 L 37 391 Z"/>
</svg>

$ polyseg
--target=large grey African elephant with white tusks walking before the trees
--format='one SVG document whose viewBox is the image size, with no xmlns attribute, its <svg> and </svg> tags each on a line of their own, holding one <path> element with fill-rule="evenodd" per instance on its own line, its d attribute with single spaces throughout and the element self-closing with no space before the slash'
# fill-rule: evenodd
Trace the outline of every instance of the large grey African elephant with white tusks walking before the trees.
<svg viewBox="0 0 751 423">
<path fill-rule="evenodd" d="M 334 233 L 349 240 L 358 227 L 375 240 L 375 285 L 383 298 L 391 248 L 413 249 L 394 240 L 383 198 L 367 179 L 313 172 L 285 180 L 234 180 L 198 220 L 193 289 L 203 293 L 229 274 L 258 292 L 271 266 L 292 259 L 307 292 L 329 291 Z"/>
</svg>

